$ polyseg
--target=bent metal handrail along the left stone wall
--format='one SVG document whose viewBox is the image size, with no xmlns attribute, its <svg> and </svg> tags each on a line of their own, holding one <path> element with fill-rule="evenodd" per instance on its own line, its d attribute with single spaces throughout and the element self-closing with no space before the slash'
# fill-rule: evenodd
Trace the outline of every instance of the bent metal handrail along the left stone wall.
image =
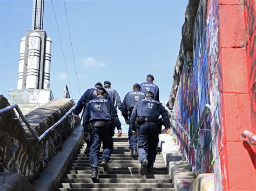
<svg viewBox="0 0 256 191">
<path fill-rule="evenodd" d="M 12 110 L 12 109 L 16 109 L 17 112 L 18 112 L 18 114 L 19 114 L 19 117 L 18 117 L 17 119 L 22 118 L 23 122 L 24 122 L 25 125 L 29 128 L 29 131 L 32 133 L 33 137 L 37 140 L 37 142 L 41 142 L 41 140 L 43 140 L 43 139 L 45 138 L 45 136 L 48 135 L 48 133 L 49 133 L 50 131 L 53 131 L 54 128 L 56 128 L 56 126 L 59 125 L 59 124 L 63 121 L 63 119 L 65 119 L 66 116 L 68 116 L 68 115 L 73 111 L 73 109 L 75 109 L 75 108 L 76 108 L 76 105 L 74 105 L 68 112 L 66 112 L 66 114 L 65 114 L 62 118 L 60 118 L 58 122 L 56 122 L 55 124 L 53 124 L 53 125 L 52 125 L 48 130 L 46 130 L 40 137 L 38 137 L 36 131 L 33 130 L 33 128 L 31 127 L 31 125 L 29 124 L 29 122 L 26 120 L 26 117 L 22 114 L 22 111 L 21 111 L 21 109 L 19 109 L 18 104 L 12 104 L 12 105 L 9 105 L 9 106 L 6 107 L 6 108 L 0 109 L 0 116 L 1 116 L 2 114 L 4 114 L 5 112 L 7 112 L 7 111 L 10 111 L 10 110 Z"/>
</svg>

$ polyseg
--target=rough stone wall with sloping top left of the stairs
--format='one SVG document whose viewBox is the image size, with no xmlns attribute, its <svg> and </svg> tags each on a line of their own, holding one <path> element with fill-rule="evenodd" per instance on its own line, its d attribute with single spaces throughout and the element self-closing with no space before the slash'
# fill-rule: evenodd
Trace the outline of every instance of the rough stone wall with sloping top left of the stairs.
<svg viewBox="0 0 256 191">
<path fill-rule="evenodd" d="M 0 109 L 9 105 L 0 95 Z M 26 119 L 38 135 L 56 123 L 75 102 L 71 99 L 56 99 L 28 115 Z M 51 131 L 41 143 L 33 138 L 28 128 L 17 118 L 14 110 L 5 112 L 0 118 L 0 172 L 17 172 L 33 181 L 47 165 L 48 160 L 62 148 L 63 142 L 75 126 L 71 113 Z M 61 159 L 60 159 L 61 160 Z"/>
</svg>

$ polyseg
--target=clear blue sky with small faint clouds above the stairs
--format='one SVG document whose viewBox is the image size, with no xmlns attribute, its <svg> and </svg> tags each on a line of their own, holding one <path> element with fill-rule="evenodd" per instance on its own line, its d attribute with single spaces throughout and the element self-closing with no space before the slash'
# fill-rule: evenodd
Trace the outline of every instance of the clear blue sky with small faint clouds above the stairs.
<svg viewBox="0 0 256 191">
<path fill-rule="evenodd" d="M 65 9 L 53 0 L 63 41 L 73 98 L 79 99 Z M 109 80 L 122 100 L 134 83 L 153 74 L 160 99 L 167 101 L 177 59 L 187 0 L 65 1 L 81 94 L 96 82 Z M 45 0 L 43 29 L 52 39 L 53 96 L 68 84 L 50 0 Z M 17 88 L 19 41 L 31 30 L 32 0 L 1 0 L 0 94 Z"/>
</svg>

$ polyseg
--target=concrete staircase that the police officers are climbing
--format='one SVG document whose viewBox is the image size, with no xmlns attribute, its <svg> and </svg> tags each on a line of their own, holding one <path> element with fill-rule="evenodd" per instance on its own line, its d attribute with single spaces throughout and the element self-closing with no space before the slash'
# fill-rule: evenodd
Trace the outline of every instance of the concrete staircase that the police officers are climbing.
<svg viewBox="0 0 256 191">
<path fill-rule="evenodd" d="M 138 158 L 130 157 L 127 134 L 113 139 L 114 150 L 109 161 L 109 174 L 99 167 L 99 179 L 92 181 L 90 159 L 84 154 L 86 145 L 80 146 L 60 179 L 57 190 L 174 190 L 162 155 L 157 155 L 152 173 L 142 176 Z"/>
</svg>

